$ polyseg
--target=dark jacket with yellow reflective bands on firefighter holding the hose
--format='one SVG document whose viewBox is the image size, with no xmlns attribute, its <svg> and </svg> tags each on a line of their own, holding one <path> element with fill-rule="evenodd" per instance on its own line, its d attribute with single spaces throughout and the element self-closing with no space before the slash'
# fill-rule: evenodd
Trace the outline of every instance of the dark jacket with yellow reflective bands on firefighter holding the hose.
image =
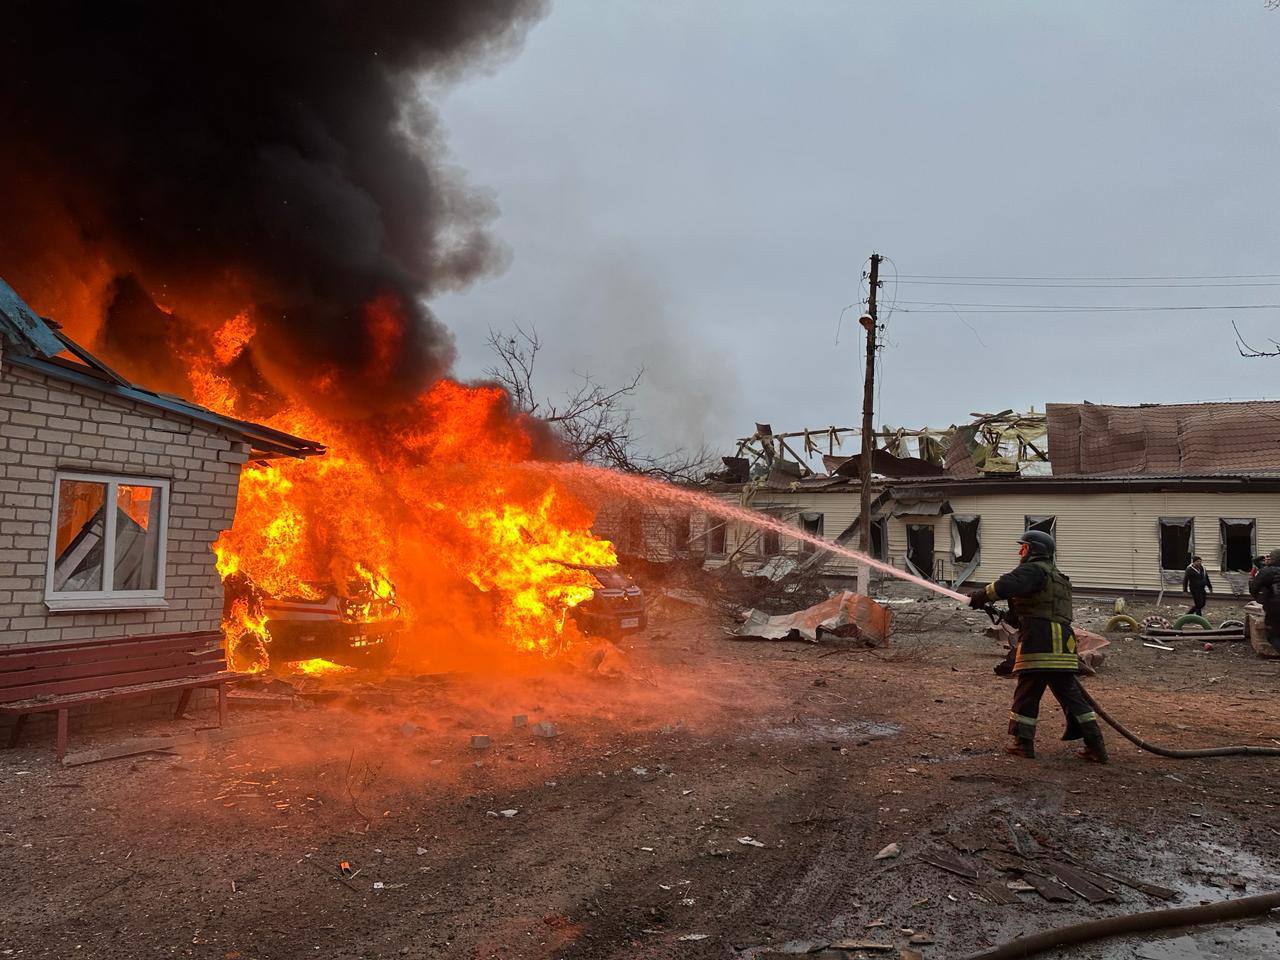
<svg viewBox="0 0 1280 960">
<path fill-rule="evenodd" d="M 1014 673 L 1080 668 L 1071 630 L 1071 581 L 1053 561 L 1028 557 L 1000 580 L 987 584 L 987 596 L 1009 600 L 1018 627 Z"/>
</svg>

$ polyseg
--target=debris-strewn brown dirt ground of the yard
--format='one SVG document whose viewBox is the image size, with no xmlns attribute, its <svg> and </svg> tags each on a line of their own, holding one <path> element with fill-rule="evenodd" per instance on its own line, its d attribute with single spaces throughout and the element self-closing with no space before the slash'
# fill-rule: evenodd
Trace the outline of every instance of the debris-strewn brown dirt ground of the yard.
<svg viewBox="0 0 1280 960">
<path fill-rule="evenodd" d="M 1094 628 L 1110 612 L 1078 608 Z M 599 671 L 347 677 L 328 703 L 237 707 L 248 735 L 174 754 L 64 768 L 32 737 L 0 753 L 0 956 L 763 959 L 869 941 L 892 951 L 817 955 L 959 957 L 1280 886 L 1280 762 L 1166 760 L 1111 735 L 1112 763 L 1084 764 L 1050 700 L 1041 758 L 1005 756 L 1012 686 L 986 621 L 895 611 L 892 645 L 867 650 L 730 640 L 671 608 Z M 1158 742 L 1280 744 L 1280 662 L 1175 646 L 1115 636 L 1088 687 Z M 1007 887 L 1068 859 L 1174 899 Z M 1249 960 L 1277 934 L 1270 919 L 1048 956 Z"/>
</svg>

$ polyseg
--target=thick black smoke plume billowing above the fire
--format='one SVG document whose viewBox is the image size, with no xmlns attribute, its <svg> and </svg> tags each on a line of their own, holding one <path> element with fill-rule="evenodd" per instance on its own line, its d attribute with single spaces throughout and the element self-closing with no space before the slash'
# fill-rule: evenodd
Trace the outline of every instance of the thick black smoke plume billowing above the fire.
<svg viewBox="0 0 1280 960">
<path fill-rule="evenodd" d="M 182 381 L 179 340 L 251 306 L 256 375 L 278 389 L 324 371 L 334 404 L 403 397 L 453 360 L 422 301 L 503 260 L 493 204 L 444 163 L 421 87 L 508 52 L 543 12 L 6 4 L 0 275 L 92 325 L 125 372 L 145 356 L 157 387 Z"/>
</svg>

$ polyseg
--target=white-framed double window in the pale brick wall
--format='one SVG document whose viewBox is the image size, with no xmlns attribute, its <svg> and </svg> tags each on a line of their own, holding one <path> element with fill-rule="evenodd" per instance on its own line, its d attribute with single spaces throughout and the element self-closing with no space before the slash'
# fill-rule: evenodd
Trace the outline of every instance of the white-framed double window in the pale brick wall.
<svg viewBox="0 0 1280 960">
<path fill-rule="evenodd" d="M 169 483 L 58 474 L 45 600 L 51 608 L 163 602 Z"/>
</svg>

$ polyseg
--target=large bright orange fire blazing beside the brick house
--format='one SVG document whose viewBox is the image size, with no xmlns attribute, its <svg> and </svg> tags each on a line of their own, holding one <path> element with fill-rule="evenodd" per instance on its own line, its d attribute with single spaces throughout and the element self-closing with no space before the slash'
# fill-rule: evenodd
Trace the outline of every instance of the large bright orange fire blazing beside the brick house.
<svg viewBox="0 0 1280 960">
<path fill-rule="evenodd" d="M 383 362 L 398 317 L 375 301 L 369 320 L 380 344 L 371 362 Z M 301 401 L 255 416 L 229 372 L 255 334 L 248 314 L 212 332 L 209 352 L 189 358 L 192 398 L 329 452 L 244 467 L 234 526 L 215 545 L 228 585 L 298 602 L 332 591 L 348 613 L 394 605 L 401 658 L 419 664 L 503 646 L 550 655 L 579 636 L 568 612 L 591 596 L 594 579 L 573 564 L 617 557 L 591 534 L 590 508 L 545 472 L 520 470 L 531 425 L 503 390 L 440 380 L 389 416 L 339 421 Z M 361 616 L 379 614 L 357 607 Z M 234 599 L 224 628 L 239 667 L 270 658 L 268 621 L 251 596 Z"/>
</svg>

